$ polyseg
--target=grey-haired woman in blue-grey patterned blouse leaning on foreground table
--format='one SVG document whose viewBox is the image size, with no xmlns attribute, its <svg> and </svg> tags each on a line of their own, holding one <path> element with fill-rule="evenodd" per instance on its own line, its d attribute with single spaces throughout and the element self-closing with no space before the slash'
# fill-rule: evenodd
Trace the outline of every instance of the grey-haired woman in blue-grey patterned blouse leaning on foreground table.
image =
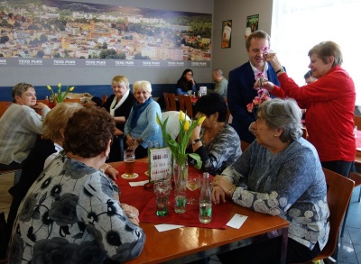
<svg viewBox="0 0 361 264">
<path fill-rule="evenodd" d="M 316 257 L 329 238 L 325 176 L 317 150 L 301 137 L 301 109 L 293 99 L 271 99 L 259 106 L 252 124 L 255 141 L 213 180 L 212 200 L 290 222 L 287 263 Z M 242 256 L 245 263 L 279 263 L 278 241 L 220 254 L 223 263 Z M 278 260 L 279 261 L 279 260 Z"/>
</svg>

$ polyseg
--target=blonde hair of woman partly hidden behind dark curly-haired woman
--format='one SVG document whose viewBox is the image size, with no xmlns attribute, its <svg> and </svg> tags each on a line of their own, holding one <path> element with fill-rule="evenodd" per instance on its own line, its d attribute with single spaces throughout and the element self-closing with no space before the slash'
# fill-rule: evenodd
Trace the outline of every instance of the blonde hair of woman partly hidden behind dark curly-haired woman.
<svg viewBox="0 0 361 264">
<path fill-rule="evenodd" d="M 42 123 L 42 137 L 51 141 L 62 141 L 62 132 L 68 123 L 69 117 L 82 107 L 78 103 L 58 103 L 46 115 Z"/>
</svg>

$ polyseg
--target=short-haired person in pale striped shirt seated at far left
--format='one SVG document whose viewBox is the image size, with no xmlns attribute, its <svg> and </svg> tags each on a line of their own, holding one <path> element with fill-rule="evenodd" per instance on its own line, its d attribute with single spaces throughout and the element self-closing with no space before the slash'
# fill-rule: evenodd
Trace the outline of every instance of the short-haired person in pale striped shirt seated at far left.
<svg viewBox="0 0 361 264">
<path fill-rule="evenodd" d="M 19 83 L 13 87 L 13 102 L 0 119 L 0 170 L 23 167 L 38 136 L 42 134 L 42 120 L 51 109 L 36 102 L 31 84 Z M 36 110 L 42 110 L 42 115 Z"/>
</svg>

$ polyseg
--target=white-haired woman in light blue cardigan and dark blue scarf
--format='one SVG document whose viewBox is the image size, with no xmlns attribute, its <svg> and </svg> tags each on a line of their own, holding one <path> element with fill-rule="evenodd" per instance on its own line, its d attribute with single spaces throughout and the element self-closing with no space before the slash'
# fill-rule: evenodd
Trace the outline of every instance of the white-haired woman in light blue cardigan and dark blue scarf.
<svg viewBox="0 0 361 264">
<path fill-rule="evenodd" d="M 135 159 L 148 156 L 148 142 L 162 147 L 162 129 L 156 122 L 162 116 L 161 107 L 152 98 L 152 85 L 145 80 L 135 81 L 133 93 L 136 102 L 125 123 L 126 147 L 135 150 Z"/>
</svg>

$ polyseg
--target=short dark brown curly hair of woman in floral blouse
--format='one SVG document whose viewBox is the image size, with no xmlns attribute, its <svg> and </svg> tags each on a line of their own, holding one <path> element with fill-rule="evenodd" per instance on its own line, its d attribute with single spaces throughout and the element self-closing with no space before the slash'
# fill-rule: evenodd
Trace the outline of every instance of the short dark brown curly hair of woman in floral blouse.
<svg viewBox="0 0 361 264">
<path fill-rule="evenodd" d="M 84 106 L 67 123 L 63 148 L 82 158 L 97 157 L 113 140 L 116 123 L 105 108 Z"/>
</svg>

